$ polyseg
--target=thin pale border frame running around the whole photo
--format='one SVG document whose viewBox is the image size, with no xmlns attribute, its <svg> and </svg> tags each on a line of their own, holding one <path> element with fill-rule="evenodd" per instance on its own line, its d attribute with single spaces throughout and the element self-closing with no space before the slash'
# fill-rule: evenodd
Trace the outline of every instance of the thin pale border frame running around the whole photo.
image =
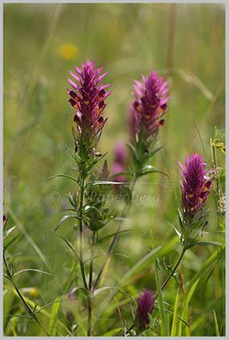
<svg viewBox="0 0 229 340">
<path fill-rule="evenodd" d="M 1 83 L 0 83 L 0 90 L 1 90 L 1 114 L 0 114 L 0 161 L 1 161 L 1 167 L 0 167 L 0 190 L 1 193 L 3 192 L 3 5 L 4 4 L 103 4 L 103 3 L 113 3 L 113 4 L 124 4 L 124 3 L 131 3 L 131 4 L 224 4 L 225 5 L 225 75 L 226 75 L 226 81 L 225 81 L 225 129 L 226 129 L 226 151 L 229 150 L 229 142 L 227 138 L 227 132 L 229 131 L 229 117 L 226 115 L 228 112 L 228 99 L 229 99 L 229 87 L 228 87 L 228 58 L 229 58 L 229 45 L 227 43 L 228 41 L 228 33 L 229 33 L 229 1 L 228 0 L 177 0 L 177 1 L 169 1 L 169 0 L 163 0 L 163 1 L 154 1 L 154 0 L 143 0 L 143 1 L 138 1 L 138 0 L 110 0 L 110 1 L 102 1 L 102 0 L 96 0 L 96 1 L 74 1 L 74 0 L 33 0 L 33 1 L 27 1 L 27 0 L 21 0 L 21 1 L 15 1 L 15 0 L 1 0 L 0 1 L 0 23 L 1 23 L 1 34 L 0 34 L 0 46 L 2 47 L 1 51 Z M 226 152 L 226 198 L 228 198 L 229 194 L 229 184 L 227 185 L 228 182 L 228 165 L 229 165 L 229 156 L 228 152 Z M 3 195 L 1 194 L 1 199 L 0 199 L 0 216 L 3 216 Z M 2 217 L 1 217 L 2 218 Z M 225 216 L 225 225 L 228 225 L 228 200 L 226 199 L 226 216 Z M 228 233 L 225 234 L 225 268 L 227 268 L 227 263 L 228 263 L 228 256 L 229 256 L 229 250 L 228 250 Z M 1 228 L 0 230 L 0 242 L 1 242 L 1 260 L 0 260 L 0 276 L 1 276 L 1 281 L 2 285 L 0 287 L 3 287 L 3 256 L 2 256 L 2 249 L 3 249 L 3 230 Z M 228 294 L 228 281 L 229 281 L 229 271 L 225 271 L 225 336 L 222 336 L 221 338 L 228 338 L 229 339 L 229 294 Z M 3 290 L 0 292 L 0 297 L 1 297 L 1 304 L 0 304 L 0 316 L 3 316 Z M 3 317 L 0 317 L 0 336 L 3 337 Z M 95 339 L 100 339 L 102 336 L 93 336 Z M 7 339 L 14 339 L 13 336 L 6 336 L 5 338 Z M 41 336 L 18 336 L 17 338 L 19 339 L 41 339 Z M 49 339 L 48 336 L 42 336 L 42 338 L 47 338 Z M 52 336 L 52 339 L 60 339 L 60 336 Z M 87 336 L 73 336 L 73 338 L 76 339 L 86 339 L 89 338 Z M 103 336 L 103 339 L 105 338 L 111 338 L 111 337 L 106 337 Z M 139 336 L 135 336 L 135 339 L 139 338 Z M 142 338 L 142 337 L 141 337 Z M 151 339 L 151 338 L 158 338 L 158 339 L 168 339 L 168 337 L 164 336 L 157 336 L 157 337 L 152 337 L 152 336 L 145 336 L 144 339 Z M 174 339 L 180 339 L 181 337 L 175 336 L 173 337 Z M 215 336 L 187 336 L 187 339 L 215 339 Z M 112 336 L 112 339 L 120 339 L 120 336 Z"/>
</svg>

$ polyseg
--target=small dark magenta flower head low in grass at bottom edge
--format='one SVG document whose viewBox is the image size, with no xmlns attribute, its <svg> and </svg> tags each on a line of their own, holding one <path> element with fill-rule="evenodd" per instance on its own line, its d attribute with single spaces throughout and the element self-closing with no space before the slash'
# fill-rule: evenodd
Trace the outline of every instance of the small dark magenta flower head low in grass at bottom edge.
<svg viewBox="0 0 229 340">
<path fill-rule="evenodd" d="M 147 326 L 150 325 L 149 314 L 152 313 L 154 308 L 153 294 L 153 291 L 146 289 L 144 289 L 143 294 L 142 291 L 139 292 L 139 299 L 137 300 L 137 312 L 135 317 L 137 333 L 143 331 Z"/>
</svg>

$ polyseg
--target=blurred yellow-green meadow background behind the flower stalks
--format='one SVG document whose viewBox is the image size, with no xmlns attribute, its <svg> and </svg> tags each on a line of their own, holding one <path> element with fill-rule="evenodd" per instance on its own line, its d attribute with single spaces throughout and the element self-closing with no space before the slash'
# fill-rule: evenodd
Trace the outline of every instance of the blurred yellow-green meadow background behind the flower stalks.
<svg viewBox="0 0 229 340">
<path fill-rule="evenodd" d="M 216 4 L 4 5 L 5 214 L 11 216 L 8 227 L 18 225 L 22 232 L 8 256 L 20 262 L 18 270 L 37 268 L 53 273 L 48 276 L 26 271 L 18 275 L 18 285 L 25 289 L 25 295 L 39 300 L 41 305 L 54 301 L 63 294 L 73 263 L 66 244 L 47 231 L 53 230 L 64 215 L 63 209 L 68 207 L 65 194 L 73 189 L 72 183 L 68 179 L 45 179 L 57 173 L 73 173 L 74 164 L 65 146 L 67 143 L 71 149 L 74 147 L 67 78 L 69 69 L 74 70 L 87 58 L 96 60 L 97 67 L 104 65 L 104 70 L 109 71 L 105 83 L 114 84 L 106 100 L 108 121 L 99 148 L 102 153 L 108 151 L 110 167 L 115 143 L 128 142 L 133 79 L 157 70 L 169 79 L 171 94 L 166 124 L 160 128 L 159 145 L 163 150 L 152 162 L 167 171 L 171 179 L 154 174 L 139 180 L 135 192 L 159 195 L 159 203 L 133 204 L 130 223 L 124 227 L 137 228 L 145 234 L 120 237 L 115 252 L 130 258 L 112 258 L 104 285 L 115 286 L 149 253 L 151 235 L 153 245 L 162 246 L 158 253 L 161 263 L 163 257 L 171 264 L 177 260 L 181 247 L 168 223 L 178 225 L 178 161 L 184 162 L 186 153 L 203 154 L 197 124 L 207 161 L 214 126 L 224 128 L 224 15 L 224 5 Z M 224 166 L 223 153 L 218 155 L 218 164 Z M 213 198 L 207 208 L 209 236 L 205 238 L 219 242 Z M 116 226 L 109 224 L 105 233 L 115 231 Z M 73 243 L 72 222 L 62 225 L 60 234 Z M 215 248 L 205 247 L 187 253 L 182 269 L 185 285 L 214 252 Z M 99 264 L 97 261 L 96 270 Z M 215 335 L 214 309 L 224 335 L 223 273 L 221 261 L 209 278 L 208 273 L 199 282 L 189 306 L 189 335 Z M 160 280 L 166 275 L 161 264 Z M 80 285 L 78 274 L 76 284 Z M 155 289 L 152 259 L 120 284 L 135 298 L 139 289 Z M 177 287 L 175 280 L 171 281 L 164 292 L 165 301 L 172 306 Z M 123 317 L 131 320 L 130 300 L 122 296 L 118 299 Z M 95 305 L 95 335 L 122 326 L 115 301 L 110 300 L 101 314 L 100 302 L 98 299 Z M 181 308 L 181 291 L 179 302 Z M 86 298 L 78 293 L 82 316 L 87 315 L 85 306 Z M 51 307 L 46 309 L 50 311 Z M 17 335 L 40 335 L 31 320 L 8 316 L 20 313 L 21 302 L 5 289 L 5 335 L 13 335 L 12 325 Z M 67 322 L 65 317 L 66 313 L 60 314 L 63 322 Z M 48 321 L 43 317 L 44 325 Z M 76 334 L 80 335 L 80 331 Z"/>
</svg>

